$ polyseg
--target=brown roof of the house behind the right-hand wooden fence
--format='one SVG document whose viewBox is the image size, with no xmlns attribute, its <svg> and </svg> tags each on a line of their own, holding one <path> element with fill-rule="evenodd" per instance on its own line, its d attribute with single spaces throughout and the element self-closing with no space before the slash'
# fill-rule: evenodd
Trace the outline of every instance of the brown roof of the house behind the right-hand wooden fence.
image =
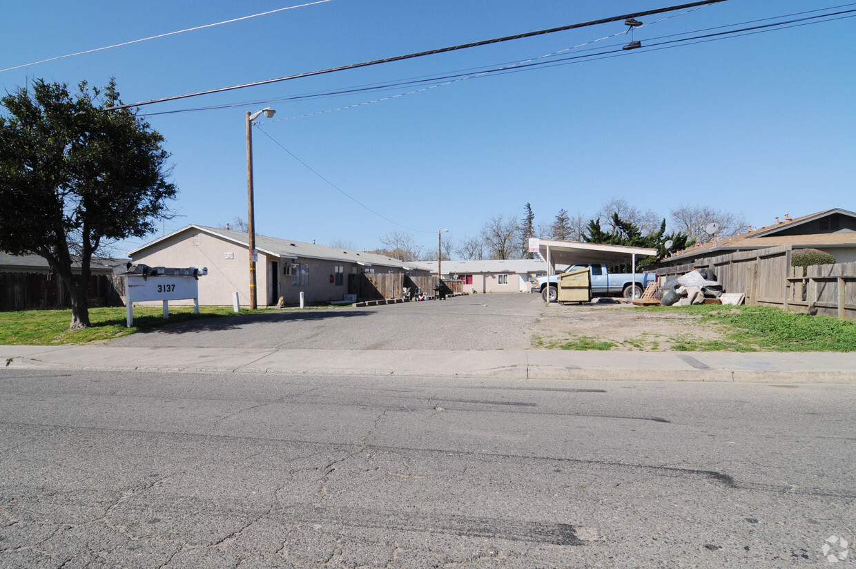
<svg viewBox="0 0 856 569">
<path fill-rule="evenodd" d="M 684 249 L 681 252 L 675 253 L 672 257 L 663 259 L 663 263 L 674 263 L 676 260 L 698 258 L 702 255 L 710 255 L 711 253 L 729 252 L 729 251 L 746 251 L 748 249 L 764 249 L 775 246 L 799 246 L 799 247 L 845 247 L 856 246 L 856 233 L 849 230 L 841 230 L 836 233 L 822 234 L 788 234 L 778 235 L 782 231 L 790 232 L 794 228 L 804 226 L 806 223 L 813 222 L 821 217 L 840 214 L 850 216 L 856 219 L 856 213 L 853 211 L 841 210 L 835 208 L 833 210 L 818 211 L 808 216 L 795 217 L 790 219 L 787 216 L 773 225 L 768 225 L 763 228 L 753 229 L 746 233 L 726 237 L 725 239 L 710 240 L 707 243 L 698 244 L 696 246 Z"/>
</svg>

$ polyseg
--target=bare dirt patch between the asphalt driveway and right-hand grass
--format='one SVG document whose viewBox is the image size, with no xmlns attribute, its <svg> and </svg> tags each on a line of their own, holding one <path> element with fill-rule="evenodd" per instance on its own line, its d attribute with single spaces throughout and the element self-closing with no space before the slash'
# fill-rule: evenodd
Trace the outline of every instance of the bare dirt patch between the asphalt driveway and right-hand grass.
<svg viewBox="0 0 856 569">
<path fill-rule="evenodd" d="M 536 324 L 532 347 L 669 352 L 721 340 L 724 330 L 702 316 L 648 311 L 634 305 L 550 305 Z"/>
</svg>

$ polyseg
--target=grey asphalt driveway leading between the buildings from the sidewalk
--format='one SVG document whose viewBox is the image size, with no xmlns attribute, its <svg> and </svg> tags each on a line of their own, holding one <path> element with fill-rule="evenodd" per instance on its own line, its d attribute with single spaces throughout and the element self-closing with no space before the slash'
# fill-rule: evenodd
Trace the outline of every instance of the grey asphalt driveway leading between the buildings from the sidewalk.
<svg viewBox="0 0 856 569">
<path fill-rule="evenodd" d="M 540 295 L 473 294 L 446 300 L 288 309 L 168 324 L 110 341 L 119 347 L 342 350 L 496 350 L 532 346 Z"/>
</svg>

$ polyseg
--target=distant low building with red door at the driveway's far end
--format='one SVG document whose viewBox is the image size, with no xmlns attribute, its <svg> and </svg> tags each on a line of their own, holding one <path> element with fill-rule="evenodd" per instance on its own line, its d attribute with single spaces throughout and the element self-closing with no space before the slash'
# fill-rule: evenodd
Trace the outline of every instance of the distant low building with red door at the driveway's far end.
<svg viewBox="0 0 856 569">
<path fill-rule="evenodd" d="M 437 261 L 417 264 L 437 274 Z M 541 258 L 443 261 L 440 270 L 443 280 L 460 279 L 465 293 L 528 293 L 532 288 L 530 279 L 546 275 L 547 264 Z"/>
</svg>

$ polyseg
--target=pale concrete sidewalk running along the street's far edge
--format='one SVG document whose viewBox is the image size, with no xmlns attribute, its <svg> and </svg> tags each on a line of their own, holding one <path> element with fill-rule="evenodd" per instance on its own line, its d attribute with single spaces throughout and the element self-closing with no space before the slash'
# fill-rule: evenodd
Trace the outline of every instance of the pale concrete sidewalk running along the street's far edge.
<svg viewBox="0 0 856 569">
<path fill-rule="evenodd" d="M 0 346 L 0 358 L 7 371 L 135 370 L 697 382 L 856 380 L 856 353 Z"/>
</svg>

